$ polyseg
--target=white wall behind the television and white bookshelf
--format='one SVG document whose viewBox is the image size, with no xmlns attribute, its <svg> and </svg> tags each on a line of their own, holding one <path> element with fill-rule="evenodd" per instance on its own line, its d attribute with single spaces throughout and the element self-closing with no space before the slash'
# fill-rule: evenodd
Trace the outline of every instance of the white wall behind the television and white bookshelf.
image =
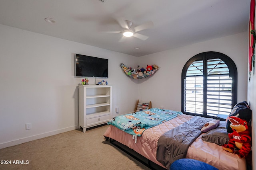
<svg viewBox="0 0 256 170">
<path fill-rule="evenodd" d="M 75 53 L 109 59 L 113 110 L 134 110 L 138 84 L 119 64 L 136 65 L 137 57 L 0 25 L 0 148 L 78 128 Z"/>
</svg>

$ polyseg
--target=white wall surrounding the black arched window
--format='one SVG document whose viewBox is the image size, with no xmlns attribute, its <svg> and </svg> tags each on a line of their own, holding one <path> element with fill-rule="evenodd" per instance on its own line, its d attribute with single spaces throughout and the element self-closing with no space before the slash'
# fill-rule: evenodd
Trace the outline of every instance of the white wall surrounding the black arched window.
<svg viewBox="0 0 256 170">
<path fill-rule="evenodd" d="M 140 98 L 151 100 L 153 107 L 181 111 L 183 66 L 198 53 L 217 51 L 230 57 L 236 64 L 238 102 L 247 100 L 247 42 L 248 33 L 244 32 L 139 57 L 139 65 L 156 64 L 160 66 L 153 76 L 139 84 Z"/>
</svg>

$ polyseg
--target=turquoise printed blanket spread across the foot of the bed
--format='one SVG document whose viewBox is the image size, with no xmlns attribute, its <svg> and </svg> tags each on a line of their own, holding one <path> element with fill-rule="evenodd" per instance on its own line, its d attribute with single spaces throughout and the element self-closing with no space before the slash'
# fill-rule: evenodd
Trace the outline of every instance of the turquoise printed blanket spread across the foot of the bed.
<svg viewBox="0 0 256 170">
<path fill-rule="evenodd" d="M 131 135 L 141 136 L 146 129 L 173 119 L 180 114 L 182 114 L 180 111 L 152 108 L 114 117 L 108 121 L 108 125 L 113 125 Z"/>
</svg>

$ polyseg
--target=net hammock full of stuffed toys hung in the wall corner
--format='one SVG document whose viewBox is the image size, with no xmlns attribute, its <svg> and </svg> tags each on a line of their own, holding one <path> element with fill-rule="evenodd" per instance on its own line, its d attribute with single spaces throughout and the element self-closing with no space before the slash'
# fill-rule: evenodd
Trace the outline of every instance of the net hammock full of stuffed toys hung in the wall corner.
<svg viewBox="0 0 256 170">
<path fill-rule="evenodd" d="M 142 67 L 137 70 L 135 68 L 128 67 L 124 64 L 120 64 L 119 66 L 122 68 L 123 72 L 127 76 L 130 76 L 130 78 L 133 78 L 133 79 L 142 79 L 148 76 L 152 76 L 160 68 L 156 66 L 156 64 L 147 65 L 146 69 Z"/>
</svg>

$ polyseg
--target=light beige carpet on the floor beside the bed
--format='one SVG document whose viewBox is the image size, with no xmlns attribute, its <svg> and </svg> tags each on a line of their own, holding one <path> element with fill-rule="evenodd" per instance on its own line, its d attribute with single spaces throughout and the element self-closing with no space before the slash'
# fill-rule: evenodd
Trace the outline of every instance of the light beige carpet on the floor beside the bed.
<svg viewBox="0 0 256 170">
<path fill-rule="evenodd" d="M 0 170 L 150 170 L 113 147 L 103 134 L 108 125 L 81 129 L 0 149 Z M 22 164 L 13 164 L 13 161 Z M 28 163 L 28 164 L 26 164 Z"/>
</svg>

